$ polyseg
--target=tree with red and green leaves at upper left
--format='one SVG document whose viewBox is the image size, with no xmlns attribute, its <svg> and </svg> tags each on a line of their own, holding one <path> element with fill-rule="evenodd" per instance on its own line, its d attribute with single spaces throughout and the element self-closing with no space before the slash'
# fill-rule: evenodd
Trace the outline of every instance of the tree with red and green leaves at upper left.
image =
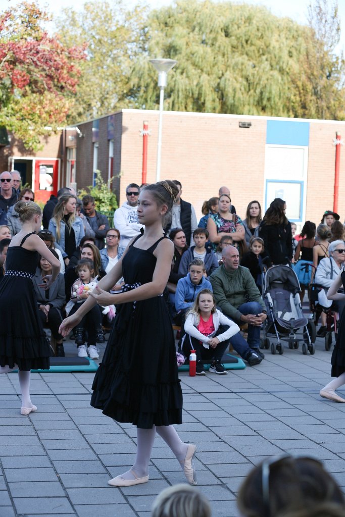
<svg viewBox="0 0 345 517">
<path fill-rule="evenodd" d="M 47 21 L 28 2 L 0 14 L 0 125 L 32 149 L 47 127 L 65 123 L 85 59 L 85 47 L 64 47 Z"/>
</svg>

